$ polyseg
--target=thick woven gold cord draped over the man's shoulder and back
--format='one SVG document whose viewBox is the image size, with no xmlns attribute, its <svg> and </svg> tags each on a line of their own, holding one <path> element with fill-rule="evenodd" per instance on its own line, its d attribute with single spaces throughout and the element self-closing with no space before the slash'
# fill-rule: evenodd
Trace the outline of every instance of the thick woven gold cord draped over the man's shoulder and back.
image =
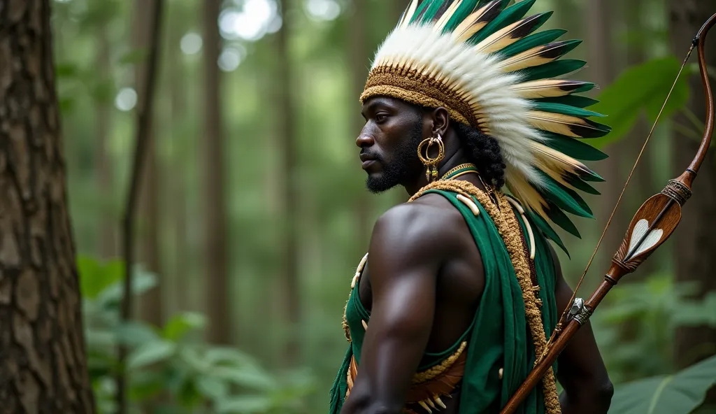
<svg viewBox="0 0 716 414">
<path fill-rule="evenodd" d="M 512 208 L 505 196 L 498 195 L 497 200 L 499 208 L 493 204 L 487 194 L 475 187 L 472 183 L 464 180 L 457 181 L 435 181 L 423 187 L 412 196 L 409 203 L 422 196 L 427 190 L 445 190 L 453 191 L 463 196 L 475 196 L 485 211 L 495 222 L 498 232 L 507 246 L 508 254 L 515 268 L 517 281 L 522 290 L 522 299 L 525 302 L 525 311 L 527 322 L 532 334 L 532 340 L 535 345 L 535 355 L 542 355 L 542 351 L 546 347 L 547 339 L 542 324 L 542 315 L 537 306 L 537 298 L 532 289 L 532 280 L 530 277 L 530 267 L 524 254 L 522 246 L 522 238 L 519 234 L 520 225 L 516 216 L 511 213 Z M 559 395 L 557 394 L 557 385 L 552 367 L 549 368 L 546 375 L 542 378 L 542 386 L 544 390 L 544 403 L 548 414 L 561 413 L 561 405 L 559 404 Z"/>
</svg>

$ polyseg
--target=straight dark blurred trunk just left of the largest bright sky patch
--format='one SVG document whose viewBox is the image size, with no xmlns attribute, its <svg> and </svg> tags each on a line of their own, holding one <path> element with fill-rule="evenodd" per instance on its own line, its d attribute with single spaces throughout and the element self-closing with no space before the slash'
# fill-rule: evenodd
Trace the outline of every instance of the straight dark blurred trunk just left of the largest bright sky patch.
<svg viewBox="0 0 716 414">
<path fill-rule="evenodd" d="M 221 0 L 205 1 L 204 9 L 204 116 L 205 116 L 205 197 L 206 197 L 206 306 L 208 340 L 231 343 L 231 309 L 228 306 L 228 274 L 226 255 L 226 201 L 224 195 L 223 135 L 221 130 L 221 97 L 218 68 L 218 16 Z"/>
</svg>

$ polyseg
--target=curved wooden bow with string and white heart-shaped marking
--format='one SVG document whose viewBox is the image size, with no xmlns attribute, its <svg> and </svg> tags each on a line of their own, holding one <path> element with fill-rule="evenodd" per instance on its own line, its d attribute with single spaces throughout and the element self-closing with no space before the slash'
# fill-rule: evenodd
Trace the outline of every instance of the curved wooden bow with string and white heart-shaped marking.
<svg viewBox="0 0 716 414">
<path fill-rule="evenodd" d="M 577 284 L 576 289 L 574 289 L 574 296 L 570 301 L 570 305 L 564 310 L 556 329 L 551 334 L 546 351 L 538 358 L 535 367 L 533 367 L 526 380 L 508 401 L 507 405 L 505 405 L 505 408 L 500 411 L 500 414 L 510 414 L 517 410 L 525 398 L 527 398 L 531 390 L 545 375 L 548 368 L 552 366 L 554 361 L 556 361 L 557 357 L 562 350 L 564 350 L 567 342 L 569 342 L 571 337 L 574 336 L 577 329 L 589 320 L 589 317 L 592 312 L 594 312 L 594 309 L 596 309 L 601 300 L 604 299 L 609 290 L 614 287 L 617 282 L 619 282 L 621 276 L 632 273 L 636 270 L 639 264 L 642 264 L 642 262 L 646 260 L 647 257 L 649 257 L 649 255 L 657 249 L 657 247 L 661 246 L 664 241 L 669 239 L 669 236 L 672 235 L 674 229 L 679 224 L 679 221 L 681 221 L 681 208 L 691 197 L 692 183 L 696 178 L 701 163 L 706 156 L 711 143 L 711 135 L 714 130 L 714 100 L 709 83 L 709 75 L 707 73 L 704 44 L 706 34 L 715 23 L 716 14 L 711 16 L 697 33 L 681 67 L 683 70 L 694 47 L 697 47 L 701 80 L 706 94 L 707 116 L 706 130 L 694 160 L 692 160 L 691 164 L 684 171 L 684 173 L 682 173 L 682 175 L 679 175 L 678 178 L 674 178 L 673 180 L 669 180 L 666 188 L 664 188 L 661 193 L 649 198 L 642 205 L 642 207 L 639 208 L 639 211 L 637 211 L 636 215 L 634 215 L 634 218 L 632 219 L 632 223 L 629 225 L 629 230 L 627 231 L 627 235 L 624 237 L 624 241 L 621 242 L 619 251 L 617 251 L 611 259 L 611 267 L 609 268 L 609 271 L 606 272 L 604 281 L 601 282 L 599 287 L 593 294 L 591 294 L 591 297 L 589 297 L 586 302 L 579 298 L 576 299 L 576 292 L 579 289 L 581 282 L 584 280 L 584 276 L 586 276 L 587 271 L 589 271 L 589 266 L 591 265 L 592 260 L 594 260 L 596 251 L 599 249 L 599 245 L 604 239 L 606 229 L 609 228 L 611 218 L 614 217 L 614 212 L 616 212 L 616 208 L 619 206 L 621 196 L 624 195 L 624 191 L 626 191 L 627 186 L 629 186 L 629 180 L 631 180 L 634 170 L 637 168 L 637 164 L 639 163 L 639 159 L 642 157 L 642 153 L 644 153 L 644 148 L 646 148 L 649 138 L 654 132 L 654 127 L 656 127 L 657 122 L 659 121 L 659 116 L 661 115 L 661 112 L 659 112 L 659 116 L 657 116 L 657 120 L 654 121 L 654 125 L 652 126 L 652 131 L 649 133 L 647 140 L 644 142 L 644 146 L 637 157 L 637 161 L 634 163 L 634 168 L 632 168 L 632 172 L 629 173 L 627 183 L 624 184 L 621 195 L 616 202 L 616 206 L 614 206 L 614 211 L 611 212 L 611 216 L 609 217 L 609 221 L 606 223 L 604 232 L 601 234 L 599 242 L 596 245 L 596 249 L 594 249 L 594 254 L 592 254 L 591 259 L 589 259 L 586 269 L 584 270 L 584 274 L 582 274 L 579 284 Z M 672 90 L 674 90 L 674 86 L 676 85 L 680 74 L 681 70 L 679 70 L 677 79 L 674 80 Z M 671 92 L 669 92 L 669 95 L 671 95 Z M 667 100 L 668 99 L 669 97 L 667 96 Z M 664 110 L 665 105 L 666 101 L 664 101 L 662 111 Z"/>
</svg>

